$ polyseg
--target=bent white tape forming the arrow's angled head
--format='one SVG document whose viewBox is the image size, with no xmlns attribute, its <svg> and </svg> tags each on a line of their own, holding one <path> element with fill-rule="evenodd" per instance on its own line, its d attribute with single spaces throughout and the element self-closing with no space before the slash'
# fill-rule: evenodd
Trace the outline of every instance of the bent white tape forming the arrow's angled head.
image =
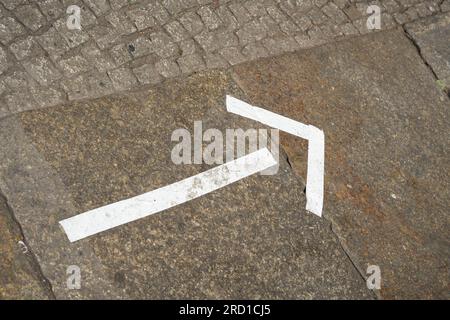
<svg viewBox="0 0 450 320">
<path fill-rule="evenodd" d="M 226 97 L 228 112 L 261 122 L 308 140 L 308 173 L 306 176 L 306 210 L 322 216 L 325 166 L 325 135 L 322 130 L 286 118 L 244 101 Z"/>
</svg>

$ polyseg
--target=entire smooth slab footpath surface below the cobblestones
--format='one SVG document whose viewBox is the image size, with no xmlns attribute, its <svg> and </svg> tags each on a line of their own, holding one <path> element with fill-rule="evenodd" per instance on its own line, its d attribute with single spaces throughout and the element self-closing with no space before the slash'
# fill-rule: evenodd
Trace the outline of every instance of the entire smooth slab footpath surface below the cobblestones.
<svg viewBox="0 0 450 320">
<path fill-rule="evenodd" d="M 448 299 L 448 21 L 1 119 L 0 297 Z M 307 145 L 281 134 L 274 176 L 67 240 L 60 220 L 210 168 L 172 162 L 174 130 L 260 127 L 226 94 L 324 131 L 322 218 L 305 210 Z"/>
</svg>

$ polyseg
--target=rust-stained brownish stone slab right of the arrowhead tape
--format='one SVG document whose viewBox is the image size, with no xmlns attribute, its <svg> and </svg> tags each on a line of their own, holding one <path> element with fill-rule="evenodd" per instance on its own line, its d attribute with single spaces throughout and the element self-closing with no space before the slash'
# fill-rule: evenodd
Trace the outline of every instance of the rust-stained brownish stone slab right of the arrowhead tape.
<svg viewBox="0 0 450 320">
<path fill-rule="evenodd" d="M 381 268 L 380 296 L 448 299 L 450 103 L 403 31 L 238 66 L 235 79 L 254 105 L 324 130 L 325 218 L 362 274 Z M 281 143 L 306 177 L 305 144 Z"/>
</svg>

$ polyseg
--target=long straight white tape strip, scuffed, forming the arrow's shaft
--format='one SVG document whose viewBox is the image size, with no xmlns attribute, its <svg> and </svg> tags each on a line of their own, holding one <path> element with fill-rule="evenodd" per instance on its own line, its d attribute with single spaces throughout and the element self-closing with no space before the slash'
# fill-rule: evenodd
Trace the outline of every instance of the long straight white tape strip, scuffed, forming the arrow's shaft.
<svg viewBox="0 0 450 320">
<path fill-rule="evenodd" d="M 277 162 L 267 148 L 160 189 L 97 208 L 59 223 L 71 242 L 161 212 L 266 170 Z"/>
</svg>

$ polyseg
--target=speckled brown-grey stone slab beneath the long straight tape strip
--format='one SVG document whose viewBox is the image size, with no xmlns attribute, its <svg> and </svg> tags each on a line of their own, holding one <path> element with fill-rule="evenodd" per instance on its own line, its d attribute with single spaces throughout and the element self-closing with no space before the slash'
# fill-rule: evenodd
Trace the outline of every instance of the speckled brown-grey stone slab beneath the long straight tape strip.
<svg viewBox="0 0 450 320">
<path fill-rule="evenodd" d="M 304 184 L 285 157 L 189 203 L 70 243 L 58 221 L 205 171 L 175 165 L 173 130 L 244 129 L 227 73 L 150 91 L 30 111 L 0 123 L 0 187 L 57 298 L 355 298 L 363 278 L 330 224 L 305 211 Z M 66 269 L 81 269 L 81 289 Z"/>
</svg>

